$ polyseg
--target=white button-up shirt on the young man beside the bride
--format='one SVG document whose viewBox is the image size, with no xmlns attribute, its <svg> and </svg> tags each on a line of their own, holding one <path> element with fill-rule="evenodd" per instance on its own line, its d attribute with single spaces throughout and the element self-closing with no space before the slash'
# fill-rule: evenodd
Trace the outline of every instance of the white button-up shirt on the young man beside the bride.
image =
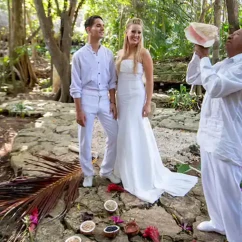
<svg viewBox="0 0 242 242">
<path fill-rule="evenodd" d="M 83 89 L 105 91 L 116 88 L 116 73 L 111 50 L 100 46 L 97 53 L 90 44 L 80 48 L 72 58 L 70 93 L 80 98 Z"/>
</svg>

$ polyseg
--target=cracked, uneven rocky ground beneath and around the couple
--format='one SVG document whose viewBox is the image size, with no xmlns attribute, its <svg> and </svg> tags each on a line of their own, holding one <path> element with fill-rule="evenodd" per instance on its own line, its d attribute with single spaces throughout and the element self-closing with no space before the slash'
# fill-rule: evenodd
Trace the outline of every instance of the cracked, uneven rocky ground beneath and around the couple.
<svg viewBox="0 0 242 242">
<path fill-rule="evenodd" d="M 6 102 L 0 106 L 0 111 L 7 113 L 19 100 Z M 63 104 L 48 100 L 24 101 L 27 109 L 26 115 L 42 117 L 35 122 L 28 123 L 18 132 L 11 152 L 11 166 L 15 172 L 22 170 L 23 175 L 35 175 L 28 171 L 24 163 L 28 159 L 35 159 L 35 154 L 45 154 L 58 157 L 66 162 L 72 162 L 77 154 L 68 146 L 77 146 L 77 125 L 75 122 L 75 109 L 73 104 Z M 13 111 L 12 111 L 13 112 Z M 24 111 L 25 112 L 25 111 Z M 194 112 L 177 112 L 172 109 L 157 108 L 151 118 L 154 134 L 163 159 L 171 170 L 176 170 L 176 165 L 187 162 L 195 166 L 199 163 L 198 150 L 196 149 L 196 133 L 199 114 Z M 104 210 L 103 204 L 107 199 L 117 201 L 119 207 L 116 215 L 124 221 L 135 219 L 141 228 L 141 233 L 128 238 L 122 226 L 119 235 L 113 239 L 115 242 L 147 241 L 142 237 L 142 232 L 147 226 L 154 225 L 158 228 L 163 242 L 223 242 L 225 237 L 216 233 L 202 233 L 196 225 L 207 218 L 207 209 L 203 197 L 201 181 L 185 197 L 171 197 L 167 194 L 151 205 L 146 204 L 128 193 L 108 193 L 106 180 L 98 176 L 99 165 L 105 147 L 105 135 L 98 122 L 95 123 L 92 149 L 99 154 L 99 160 L 94 165 L 96 171 L 95 187 L 79 188 L 79 197 L 75 205 L 62 219 L 48 222 L 63 210 L 63 201 L 60 200 L 39 226 L 36 234 L 38 242 L 61 242 L 77 234 L 82 242 L 110 241 L 103 236 L 103 229 L 110 224 L 110 215 Z M 194 148 L 195 147 L 195 148 Z M 194 173 L 199 176 L 198 173 Z M 82 222 L 81 215 L 85 212 L 94 215 L 96 230 L 92 236 L 80 234 L 79 226 Z M 192 232 L 184 231 L 183 224 L 193 227 Z M 5 233 L 0 228 L 0 234 Z"/>
</svg>

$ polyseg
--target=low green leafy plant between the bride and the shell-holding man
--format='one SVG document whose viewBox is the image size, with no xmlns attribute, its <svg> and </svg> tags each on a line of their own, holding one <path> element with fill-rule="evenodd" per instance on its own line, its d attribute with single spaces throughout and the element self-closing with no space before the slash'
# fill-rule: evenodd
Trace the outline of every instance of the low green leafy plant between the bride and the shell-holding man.
<svg viewBox="0 0 242 242">
<path fill-rule="evenodd" d="M 171 96 L 171 105 L 179 110 L 200 110 L 202 97 L 191 95 L 186 86 L 180 85 L 180 90 L 170 89 L 168 94 Z"/>
</svg>

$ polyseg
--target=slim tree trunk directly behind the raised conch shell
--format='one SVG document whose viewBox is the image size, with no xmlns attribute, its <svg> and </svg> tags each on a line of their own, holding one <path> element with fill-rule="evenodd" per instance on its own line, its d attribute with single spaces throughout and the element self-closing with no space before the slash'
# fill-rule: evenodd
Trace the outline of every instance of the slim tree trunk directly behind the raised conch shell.
<svg viewBox="0 0 242 242">
<path fill-rule="evenodd" d="M 214 25 L 218 27 L 218 31 L 221 27 L 221 13 L 222 13 L 222 1 L 215 0 L 214 2 Z M 219 38 L 213 45 L 213 64 L 219 61 Z"/>
</svg>

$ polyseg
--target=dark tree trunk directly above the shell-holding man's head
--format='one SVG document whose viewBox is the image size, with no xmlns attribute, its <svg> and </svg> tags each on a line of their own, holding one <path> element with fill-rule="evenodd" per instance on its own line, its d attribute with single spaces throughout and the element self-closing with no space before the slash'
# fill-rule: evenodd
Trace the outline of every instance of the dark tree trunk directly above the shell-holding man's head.
<svg viewBox="0 0 242 242">
<path fill-rule="evenodd" d="M 228 21 L 229 21 L 229 34 L 240 28 L 239 26 L 239 3 L 237 0 L 226 0 Z"/>
</svg>

